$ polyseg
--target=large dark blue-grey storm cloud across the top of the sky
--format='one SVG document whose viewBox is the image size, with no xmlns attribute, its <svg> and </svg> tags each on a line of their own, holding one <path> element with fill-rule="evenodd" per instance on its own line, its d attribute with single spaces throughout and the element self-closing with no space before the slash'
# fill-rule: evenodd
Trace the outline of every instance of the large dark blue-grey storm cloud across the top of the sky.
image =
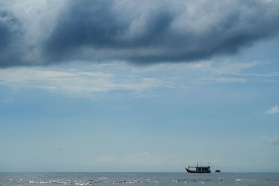
<svg viewBox="0 0 279 186">
<path fill-rule="evenodd" d="M 73 60 L 135 64 L 197 61 L 235 54 L 241 47 L 278 35 L 279 29 L 279 3 L 270 0 L 65 2 L 47 23 L 47 32 L 25 26 L 21 36 L 25 38 L 24 56 L 17 55 L 16 62 L 1 57 L 0 65 Z M 46 22 L 48 17 L 36 19 Z M 8 52 L 10 42 L 21 40 L 9 24 L 0 22 L 1 51 Z M 30 44 L 26 39 L 29 32 L 38 33 L 36 42 Z"/>
</svg>

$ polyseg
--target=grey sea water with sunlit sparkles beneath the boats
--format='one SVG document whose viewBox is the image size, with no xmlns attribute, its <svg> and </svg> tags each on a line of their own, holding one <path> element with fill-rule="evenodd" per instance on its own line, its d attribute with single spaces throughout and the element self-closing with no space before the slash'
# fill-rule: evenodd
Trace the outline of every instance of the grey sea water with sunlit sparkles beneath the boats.
<svg viewBox="0 0 279 186">
<path fill-rule="evenodd" d="M 0 173 L 0 185 L 279 185 L 279 173 Z"/>
</svg>

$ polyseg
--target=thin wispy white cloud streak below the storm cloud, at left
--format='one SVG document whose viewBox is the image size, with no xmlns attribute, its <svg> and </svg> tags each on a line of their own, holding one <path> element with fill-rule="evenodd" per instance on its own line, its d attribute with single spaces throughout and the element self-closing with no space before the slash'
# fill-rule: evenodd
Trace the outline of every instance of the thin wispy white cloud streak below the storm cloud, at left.
<svg viewBox="0 0 279 186">
<path fill-rule="evenodd" d="M 52 70 L 50 68 L 9 68 L 0 70 L 0 84 L 13 88 L 44 88 L 73 97 L 94 98 L 98 93 L 171 88 L 167 80 L 151 77 L 123 77 L 108 72 Z"/>
</svg>

